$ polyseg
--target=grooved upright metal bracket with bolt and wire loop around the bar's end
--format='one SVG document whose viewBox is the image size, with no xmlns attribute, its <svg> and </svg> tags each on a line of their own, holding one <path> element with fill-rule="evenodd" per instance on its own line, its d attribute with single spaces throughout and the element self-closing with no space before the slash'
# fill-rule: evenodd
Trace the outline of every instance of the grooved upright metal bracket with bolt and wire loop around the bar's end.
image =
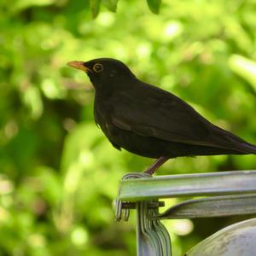
<svg viewBox="0 0 256 256">
<path fill-rule="evenodd" d="M 151 177 L 147 173 L 128 173 L 122 180 L 128 178 Z M 120 190 L 119 190 L 120 193 Z M 138 256 L 172 256 L 171 239 L 160 220 L 152 219 L 159 215 L 158 207 L 164 206 L 159 201 L 124 202 L 119 199 L 116 206 L 116 220 L 128 220 L 130 209 L 137 209 L 137 255 Z"/>
</svg>

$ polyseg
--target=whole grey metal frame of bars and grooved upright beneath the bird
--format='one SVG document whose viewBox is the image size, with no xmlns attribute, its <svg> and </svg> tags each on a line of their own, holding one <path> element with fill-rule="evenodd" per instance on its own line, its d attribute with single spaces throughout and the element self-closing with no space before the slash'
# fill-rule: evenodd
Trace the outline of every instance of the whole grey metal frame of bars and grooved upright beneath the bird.
<svg viewBox="0 0 256 256">
<path fill-rule="evenodd" d="M 159 213 L 161 198 L 201 196 Z M 207 218 L 256 213 L 256 171 L 213 172 L 151 177 L 128 173 L 119 183 L 116 219 L 137 211 L 137 255 L 170 256 L 163 218 Z"/>
</svg>

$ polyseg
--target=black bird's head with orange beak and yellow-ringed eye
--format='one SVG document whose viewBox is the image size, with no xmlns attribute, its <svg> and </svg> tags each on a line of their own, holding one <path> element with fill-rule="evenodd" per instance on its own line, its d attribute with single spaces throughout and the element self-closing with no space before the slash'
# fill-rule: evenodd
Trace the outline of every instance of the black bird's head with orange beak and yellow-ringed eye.
<svg viewBox="0 0 256 256">
<path fill-rule="evenodd" d="M 83 70 L 96 90 L 113 90 L 116 86 L 128 86 L 135 75 L 121 61 L 100 58 L 91 61 L 70 61 L 68 66 Z"/>
</svg>

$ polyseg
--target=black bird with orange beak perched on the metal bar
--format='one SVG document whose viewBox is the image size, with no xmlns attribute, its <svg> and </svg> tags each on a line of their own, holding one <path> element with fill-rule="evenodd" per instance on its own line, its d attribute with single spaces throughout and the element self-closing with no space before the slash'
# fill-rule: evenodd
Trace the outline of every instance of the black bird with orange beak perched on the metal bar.
<svg viewBox="0 0 256 256">
<path fill-rule="evenodd" d="M 212 125 L 172 93 L 137 79 L 121 61 L 71 61 L 83 70 L 96 94 L 94 117 L 114 148 L 157 159 L 153 174 L 178 156 L 256 154 L 256 146 Z"/>
</svg>

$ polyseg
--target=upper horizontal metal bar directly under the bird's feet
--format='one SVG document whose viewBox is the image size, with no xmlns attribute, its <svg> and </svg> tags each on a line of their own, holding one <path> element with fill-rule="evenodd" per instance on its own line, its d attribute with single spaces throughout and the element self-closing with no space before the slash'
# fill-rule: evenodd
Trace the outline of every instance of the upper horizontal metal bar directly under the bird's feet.
<svg viewBox="0 0 256 256">
<path fill-rule="evenodd" d="M 256 171 L 212 172 L 124 179 L 119 185 L 121 201 L 199 195 L 256 193 Z"/>
</svg>

